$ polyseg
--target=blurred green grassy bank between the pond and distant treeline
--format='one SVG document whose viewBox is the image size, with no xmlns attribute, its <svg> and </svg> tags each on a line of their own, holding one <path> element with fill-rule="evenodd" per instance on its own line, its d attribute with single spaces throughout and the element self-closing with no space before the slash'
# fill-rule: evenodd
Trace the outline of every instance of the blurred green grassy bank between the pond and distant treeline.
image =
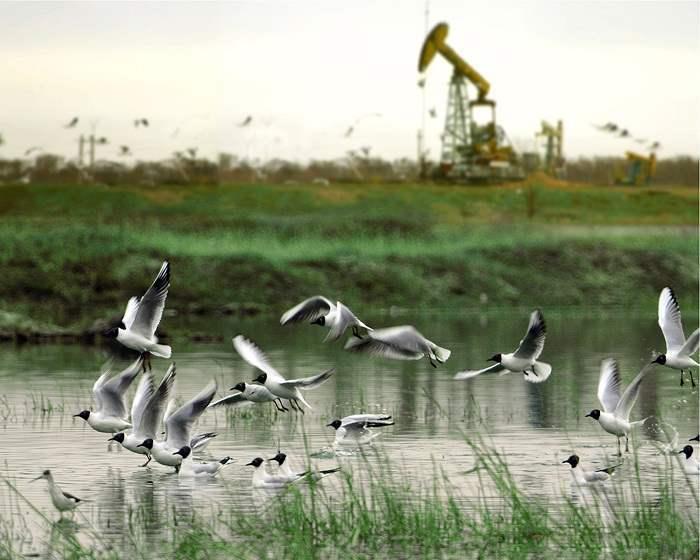
<svg viewBox="0 0 700 560">
<path fill-rule="evenodd" d="M 696 189 L 22 185 L 0 216 L 6 334 L 117 315 L 164 258 L 182 313 L 696 302 Z"/>
</svg>

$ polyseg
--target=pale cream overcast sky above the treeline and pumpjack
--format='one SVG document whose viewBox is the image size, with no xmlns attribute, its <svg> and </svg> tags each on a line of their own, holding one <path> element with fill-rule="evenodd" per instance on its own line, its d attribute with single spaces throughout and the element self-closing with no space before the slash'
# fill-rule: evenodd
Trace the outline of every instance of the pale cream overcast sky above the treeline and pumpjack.
<svg viewBox="0 0 700 560">
<path fill-rule="evenodd" d="M 570 158 L 640 149 L 593 126 L 608 121 L 662 157 L 700 154 L 700 2 L 259 0 L 0 2 L 0 157 L 75 157 L 94 130 L 126 161 L 415 158 L 423 129 L 436 159 L 451 68 L 436 58 L 421 89 L 417 59 L 441 21 L 516 148 L 562 119 Z"/>
</svg>

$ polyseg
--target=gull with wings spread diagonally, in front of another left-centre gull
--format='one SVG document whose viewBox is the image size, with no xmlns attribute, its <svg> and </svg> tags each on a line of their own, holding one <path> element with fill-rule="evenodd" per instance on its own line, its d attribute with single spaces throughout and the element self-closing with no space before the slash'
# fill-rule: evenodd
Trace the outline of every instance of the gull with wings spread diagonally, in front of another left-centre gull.
<svg viewBox="0 0 700 560">
<path fill-rule="evenodd" d="M 275 368 L 270 365 L 262 350 L 260 350 L 260 348 L 258 348 L 247 338 L 240 334 L 235 336 L 233 339 L 233 346 L 240 354 L 241 358 L 262 372 L 256 379 L 254 379 L 256 383 L 265 385 L 270 393 L 276 397 L 288 400 L 291 407 L 296 408 L 296 410 L 302 414 L 304 413 L 304 410 L 301 408 L 301 406 L 299 406 L 299 402 L 309 409 L 311 408 L 311 405 L 304 400 L 304 397 L 299 389 L 304 389 L 307 391 L 310 389 L 316 389 L 316 387 L 320 386 L 331 375 L 333 375 L 333 372 L 335 371 L 334 369 L 329 369 L 323 373 L 319 373 L 318 375 L 313 375 L 311 377 L 285 379 Z"/>
</svg>

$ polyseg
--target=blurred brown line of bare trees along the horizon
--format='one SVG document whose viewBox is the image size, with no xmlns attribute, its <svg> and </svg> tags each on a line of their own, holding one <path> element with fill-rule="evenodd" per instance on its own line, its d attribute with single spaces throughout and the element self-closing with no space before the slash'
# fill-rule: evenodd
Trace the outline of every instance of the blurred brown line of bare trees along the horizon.
<svg viewBox="0 0 700 560">
<path fill-rule="evenodd" d="M 578 158 L 566 163 L 562 178 L 574 183 L 607 185 L 624 175 L 622 158 Z M 660 159 L 652 184 L 697 186 L 698 158 L 680 156 Z M 429 173 L 428 173 L 429 175 Z M 176 153 L 162 161 L 122 163 L 99 160 L 92 167 L 80 167 L 72 160 L 53 154 L 31 159 L 0 159 L 0 183 L 103 183 L 119 184 L 217 184 L 217 183 L 392 183 L 420 180 L 419 166 L 408 158 L 393 161 L 370 155 L 369 150 L 348 152 L 334 160 L 298 163 L 282 159 L 269 161 L 240 159 L 219 154 L 216 161 L 195 154 Z"/>
</svg>

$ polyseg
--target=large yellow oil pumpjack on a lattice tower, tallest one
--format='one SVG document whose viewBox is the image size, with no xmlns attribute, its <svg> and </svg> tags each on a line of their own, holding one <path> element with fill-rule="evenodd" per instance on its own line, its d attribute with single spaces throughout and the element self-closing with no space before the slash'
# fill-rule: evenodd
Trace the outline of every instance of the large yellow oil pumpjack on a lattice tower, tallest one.
<svg viewBox="0 0 700 560">
<path fill-rule="evenodd" d="M 442 134 L 439 176 L 455 182 L 483 183 L 525 177 L 503 129 L 496 124 L 496 102 L 487 97 L 491 84 L 445 43 L 448 26 L 438 23 L 423 42 L 418 71 L 426 71 L 440 53 L 452 65 Z M 467 82 L 477 90 L 469 98 Z M 487 118 L 476 119 L 486 112 Z M 479 122 L 481 120 L 481 122 Z"/>
</svg>

